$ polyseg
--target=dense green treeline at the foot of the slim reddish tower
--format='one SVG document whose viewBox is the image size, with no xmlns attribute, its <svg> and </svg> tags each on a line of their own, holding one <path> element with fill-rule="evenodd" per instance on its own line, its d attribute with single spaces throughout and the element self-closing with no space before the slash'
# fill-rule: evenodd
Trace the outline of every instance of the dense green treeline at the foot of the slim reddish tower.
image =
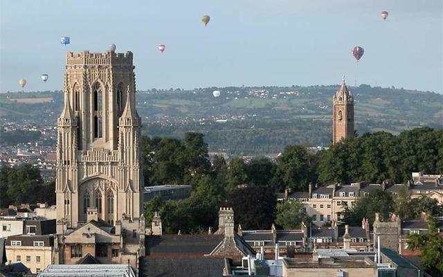
<svg viewBox="0 0 443 277">
<path fill-rule="evenodd" d="M 321 184 L 355 181 L 404 184 L 412 172 L 443 172 L 443 130 L 422 127 L 401 132 L 364 134 L 338 143 L 320 155 Z"/>
</svg>

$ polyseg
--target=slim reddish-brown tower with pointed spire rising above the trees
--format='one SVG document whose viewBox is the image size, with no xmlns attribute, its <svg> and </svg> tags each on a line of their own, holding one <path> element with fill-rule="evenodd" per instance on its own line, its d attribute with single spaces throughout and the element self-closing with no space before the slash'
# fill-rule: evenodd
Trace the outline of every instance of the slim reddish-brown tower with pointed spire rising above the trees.
<svg viewBox="0 0 443 277">
<path fill-rule="evenodd" d="M 354 136 L 354 96 L 347 90 L 345 78 L 334 95 L 332 107 L 332 143 Z"/>
</svg>

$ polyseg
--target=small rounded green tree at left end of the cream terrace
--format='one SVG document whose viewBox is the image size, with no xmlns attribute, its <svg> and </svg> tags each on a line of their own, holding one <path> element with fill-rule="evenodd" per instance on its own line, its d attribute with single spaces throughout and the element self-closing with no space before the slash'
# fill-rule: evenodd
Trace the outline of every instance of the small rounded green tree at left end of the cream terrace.
<svg viewBox="0 0 443 277">
<path fill-rule="evenodd" d="M 277 204 L 277 217 L 275 223 L 282 226 L 283 229 L 300 228 L 300 224 L 311 221 L 307 215 L 305 207 L 298 201 L 284 201 Z"/>
</svg>

